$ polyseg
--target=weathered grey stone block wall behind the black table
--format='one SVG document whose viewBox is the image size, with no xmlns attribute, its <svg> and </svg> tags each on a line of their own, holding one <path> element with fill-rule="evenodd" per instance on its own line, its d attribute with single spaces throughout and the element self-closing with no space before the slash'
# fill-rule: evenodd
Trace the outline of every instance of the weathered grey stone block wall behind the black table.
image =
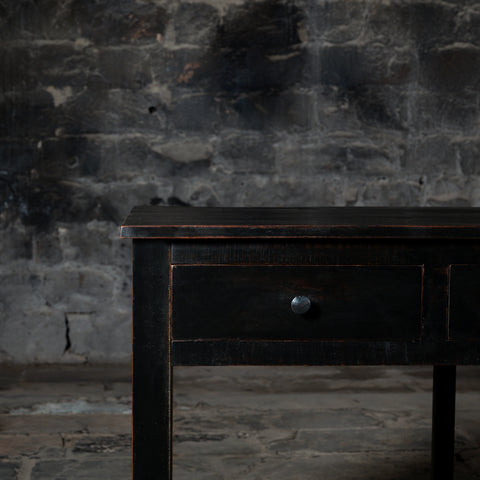
<svg viewBox="0 0 480 480">
<path fill-rule="evenodd" d="M 130 357 L 135 204 L 480 205 L 480 2 L 0 2 L 0 361 Z"/>
</svg>

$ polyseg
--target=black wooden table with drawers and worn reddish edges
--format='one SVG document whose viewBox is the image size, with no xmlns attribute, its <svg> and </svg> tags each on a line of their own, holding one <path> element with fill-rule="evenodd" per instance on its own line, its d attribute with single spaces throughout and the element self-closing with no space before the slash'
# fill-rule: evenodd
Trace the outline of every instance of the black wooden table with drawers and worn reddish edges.
<svg viewBox="0 0 480 480">
<path fill-rule="evenodd" d="M 145 206 L 121 233 L 135 480 L 171 478 L 174 365 L 434 365 L 432 477 L 453 478 L 456 365 L 480 363 L 480 209 Z"/>
</svg>

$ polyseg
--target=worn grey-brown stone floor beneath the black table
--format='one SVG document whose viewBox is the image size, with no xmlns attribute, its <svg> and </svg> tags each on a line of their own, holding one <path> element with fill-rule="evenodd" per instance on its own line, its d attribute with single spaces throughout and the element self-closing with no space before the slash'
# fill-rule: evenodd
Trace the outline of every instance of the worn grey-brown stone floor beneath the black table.
<svg viewBox="0 0 480 480">
<path fill-rule="evenodd" d="M 458 369 L 457 480 L 480 478 L 480 369 Z M 174 480 L 429 478 L 431 368 L 174 370 Z M 0 368 L 1 480 L 127 480 L 124 367 Z"/>
</svg>

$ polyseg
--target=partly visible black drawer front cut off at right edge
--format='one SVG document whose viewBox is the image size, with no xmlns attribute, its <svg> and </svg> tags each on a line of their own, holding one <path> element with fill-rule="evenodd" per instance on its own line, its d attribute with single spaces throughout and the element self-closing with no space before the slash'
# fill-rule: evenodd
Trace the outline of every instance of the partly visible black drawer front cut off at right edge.
<svg viewBox="0 0 480 480">
<path fill-rule="evenodd" d="M 450 266 L 449 338 L 480 341 L 480 265 Z"/>
</svg>

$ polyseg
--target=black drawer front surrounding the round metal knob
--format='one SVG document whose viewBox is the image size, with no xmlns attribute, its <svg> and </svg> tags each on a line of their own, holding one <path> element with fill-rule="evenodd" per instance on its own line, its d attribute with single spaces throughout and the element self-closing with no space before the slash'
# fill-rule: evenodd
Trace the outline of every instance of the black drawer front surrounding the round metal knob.
<svg viewBox="0 0 480 480">
<path fill-rule="evenodd" d="M 172 266 L 172 336 L 191 339 L 413 340 L 421 266 Z M 307 297 L 307 313 L 292 311 Z"/>
</svg>

